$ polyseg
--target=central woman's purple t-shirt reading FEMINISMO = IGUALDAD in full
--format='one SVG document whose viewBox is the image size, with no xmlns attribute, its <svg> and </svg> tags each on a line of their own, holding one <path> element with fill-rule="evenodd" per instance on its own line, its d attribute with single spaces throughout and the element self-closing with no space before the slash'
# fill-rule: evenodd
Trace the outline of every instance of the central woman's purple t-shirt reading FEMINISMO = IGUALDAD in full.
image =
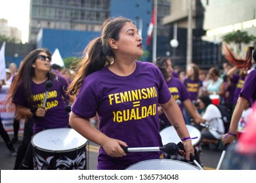
<svg viewBox="0 0 256 183">
<path fill-rule="evenodd" d="M 72 112 L 85 119 L 97 112 L 99 130 L 130 147 L 162 146 L 158 103 L 167 103 L 171 93 L 156 65 L 142 61 L 136 64 L 129 76 L 117 76 L 107 67 L 91 73 L 81 86 Z M 125 169 L 160 156 L 161 152 L 131 152 L 112 158 L 100 147 L 98 169 Z"/>
</svg>

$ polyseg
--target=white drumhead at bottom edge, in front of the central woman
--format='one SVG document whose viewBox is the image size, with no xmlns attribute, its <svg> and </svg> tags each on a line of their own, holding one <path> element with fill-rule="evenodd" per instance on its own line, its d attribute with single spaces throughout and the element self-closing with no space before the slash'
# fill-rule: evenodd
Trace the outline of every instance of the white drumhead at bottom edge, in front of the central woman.
<svg viewBox="0 0 256 183">
<path fill-rule="evenodd" d="M 173 159 L 150 159 L 140 161 L 129 167 L 127 170 L 200 170 L 194 165 Z"/>
</svg>

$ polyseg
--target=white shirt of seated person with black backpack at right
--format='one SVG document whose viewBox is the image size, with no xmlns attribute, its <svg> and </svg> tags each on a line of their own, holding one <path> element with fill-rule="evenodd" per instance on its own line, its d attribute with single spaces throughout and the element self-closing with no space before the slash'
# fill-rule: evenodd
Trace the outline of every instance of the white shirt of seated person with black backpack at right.
<svg viewBox="0 0 256 183">
<path fill-rule="evenodd" d="M 217 129 L 221 134 L 217 133 L 214 129 L 209 129 L 209 132 L 216 138 L 221 140 L 224 134 L 224 124 L 221 119 L 221 111 L 215 105 L 210 104 L 207 106 L 202 118 L 206 120 L 205 124 Z"/>
</svg>

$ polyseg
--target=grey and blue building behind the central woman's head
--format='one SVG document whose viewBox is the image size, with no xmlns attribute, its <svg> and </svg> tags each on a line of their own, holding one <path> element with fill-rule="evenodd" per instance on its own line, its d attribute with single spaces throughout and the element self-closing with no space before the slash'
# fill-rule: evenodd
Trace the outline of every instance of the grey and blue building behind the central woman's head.
<svg viewBox="0 0 256 183">
<path fill-rule="evenodd" d="M 169 14 L 169 5 L 170 0 L 158 1 L 158 36 L 161 37 L 169 35 L 168 26 L 161 24 L 162 18 Z M 69 57 L 81 52 L 98 35 L 106 18 L 124 16 L 142 30 L 144 50 L 150 50 L 146 48 L 146 39 L 153 6 L 154 0 L 31 0 L 29 40 L 51 51 L 58 48 L 64 58 Z"/>
</svg>

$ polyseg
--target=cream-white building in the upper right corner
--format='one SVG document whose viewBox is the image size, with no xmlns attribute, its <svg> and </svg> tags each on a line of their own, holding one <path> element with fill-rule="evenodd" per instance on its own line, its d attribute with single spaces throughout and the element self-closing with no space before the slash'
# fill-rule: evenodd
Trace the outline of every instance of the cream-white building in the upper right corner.
<svg viewBox="0 0 256 183">
<path fill-rule="evenodd" d="M 245 31 L 256 36 L 256 1 L 254 0 L 201 0 L 205 8 L 203 40 L 222 42 L 223 36 L 234 31 Z M 253 42 L 242 45 L 242 52 Z M 235 44 L 230 46 L 236 51 Z"/>
</svg>

